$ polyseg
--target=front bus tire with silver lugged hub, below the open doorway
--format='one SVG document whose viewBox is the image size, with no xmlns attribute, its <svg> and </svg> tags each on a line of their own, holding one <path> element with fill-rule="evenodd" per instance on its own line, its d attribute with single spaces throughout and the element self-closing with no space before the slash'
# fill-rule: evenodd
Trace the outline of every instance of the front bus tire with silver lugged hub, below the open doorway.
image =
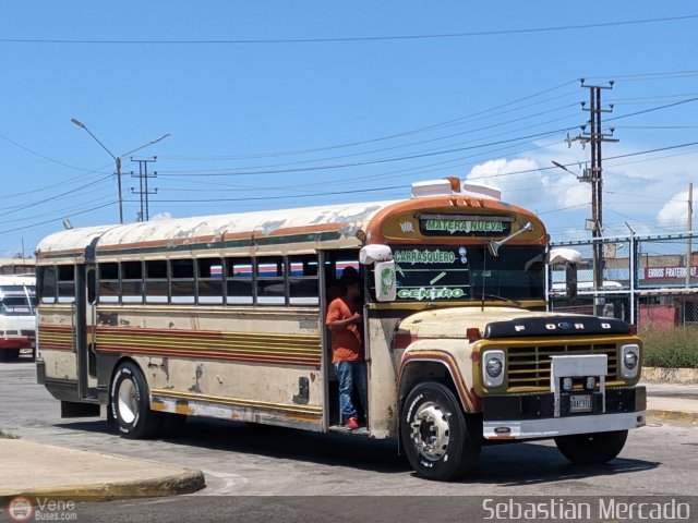
<svg viewBox="0 0 698 523">
<path fill-rule="evenodd" d="M 428 381 L 416 386 L 402 403 L 400 437 L 417 475 L 447 482 L 471 472 L 478 462 L 482 430 L 466 416 L 454 393 Z"/>
</svg>

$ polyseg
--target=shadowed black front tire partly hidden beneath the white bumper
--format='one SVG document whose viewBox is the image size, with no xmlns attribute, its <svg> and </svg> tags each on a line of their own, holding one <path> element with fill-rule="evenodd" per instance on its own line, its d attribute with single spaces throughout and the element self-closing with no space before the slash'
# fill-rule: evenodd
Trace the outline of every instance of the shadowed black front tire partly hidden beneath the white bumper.
<svg viewBox="0 0 698 523">
<path fill-rule="evenodd" d="M 616 458 L 628 437 L 627 430 L 611 433 L 575 434 L 555 438 L 557 450 L 578 465 L 607 463 Z"/>
</svg>

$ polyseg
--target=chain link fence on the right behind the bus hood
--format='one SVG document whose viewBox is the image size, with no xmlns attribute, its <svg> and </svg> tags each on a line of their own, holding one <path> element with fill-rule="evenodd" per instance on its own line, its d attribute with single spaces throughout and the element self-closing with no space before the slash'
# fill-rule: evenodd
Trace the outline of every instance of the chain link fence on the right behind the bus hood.
<svg viewBox="0 0 698 523">
<path fill-rule="evenodd" d="M 600 248 L 594 248 L 594 242 Z M 698 326 L 698 233 L 554 243 L 581 254 L 578 295 L 565 270 L 549 273 L 550 309 L 615 317 L 645 327 Z M 594 268 L 600 277 L 594 281 Z"/>
</svg>

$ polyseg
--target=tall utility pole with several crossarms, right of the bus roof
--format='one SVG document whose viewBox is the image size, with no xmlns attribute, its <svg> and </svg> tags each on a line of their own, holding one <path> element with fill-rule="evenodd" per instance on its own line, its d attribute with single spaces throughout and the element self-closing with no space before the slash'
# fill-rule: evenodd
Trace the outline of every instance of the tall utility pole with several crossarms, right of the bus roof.
<svg viewBox="0 0 698 523">
<path fill-rule="evenodd" d="M 609 82 L 609 85 L 587 85 L 582 78 L 581 87 L 589 89 L 589 108 L 586 107 L 586 102 L 581 104 L 582 110 L 589 111 L 589 121 L 587 122 L 589 132 L 587 132 L 587 125 L 582 125 L 582 133 L 574 138 L 568 138 L 568 143 L 579 141 L 583 145 L 590 144 L 591 148 L 591 167 L 585 169 L 582 179 L 591 183 L 590 229 L 593 239 L 593 288 L 600 291 L 603 289 L 603 167 L 601 144 L 603 142 L 618 142 L 618 139 L 611 137 L 613 129 L 611 129 L 611 134 L 603 134 L 601 129 L 601 114 L 613 112 L 613 105 L 609 109 L 601 108 L 601 92 L 603 89 L 612 89 L 613 81 Z M 599 314 L 598 305 L 598 300 L 594 297 L 594 315 Z"/>
</svg>

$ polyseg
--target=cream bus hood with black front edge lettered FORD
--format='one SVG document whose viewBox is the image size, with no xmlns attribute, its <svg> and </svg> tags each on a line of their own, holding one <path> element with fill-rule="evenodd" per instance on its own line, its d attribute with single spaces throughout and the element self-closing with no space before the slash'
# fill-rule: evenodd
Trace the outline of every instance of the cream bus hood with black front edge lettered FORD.
<svg viewBox="0 0 698 523">
<path fill-rule="evenodd" d="M 581 314 L 531 312 L 516 307 L 454 307 L 424 311 L 405 318 L 398 330 L 417 338 L 467 338 L 478 329 L 482 338 L 570 335 L 628 335 L 629 326 L 615 318 Z"/>
</svg>

